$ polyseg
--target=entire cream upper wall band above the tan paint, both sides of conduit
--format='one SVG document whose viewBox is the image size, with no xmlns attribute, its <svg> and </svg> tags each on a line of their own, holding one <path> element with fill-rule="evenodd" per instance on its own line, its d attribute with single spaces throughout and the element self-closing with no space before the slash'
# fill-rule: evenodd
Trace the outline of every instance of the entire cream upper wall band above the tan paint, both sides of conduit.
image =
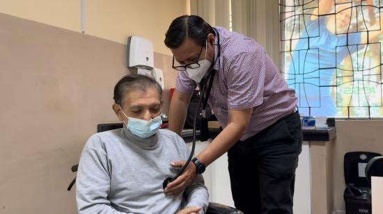
<svg viewBox="0 0 383 214">
<path fill-rule="evenodd" d="M 164 35 L 171 21 L 189 13 L 189 0 L 85 0 L 84 30 L 125 44 L 129 35 L 151 40 L 171 55 Z M 0 0 L 0 13 L 81 32 L 81 0 Z"/>
</svg>

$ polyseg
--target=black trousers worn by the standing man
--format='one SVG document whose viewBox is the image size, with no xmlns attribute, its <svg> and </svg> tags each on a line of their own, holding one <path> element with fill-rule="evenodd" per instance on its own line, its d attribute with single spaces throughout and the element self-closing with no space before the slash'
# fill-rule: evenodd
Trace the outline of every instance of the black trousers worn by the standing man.
<svg viewBox="0 0 383 214">
<path fill-rule="evenodd" d="M 295 169 L 301 151 L 299 113 L 238 141 L 228 151 L 235 207 L 245 214 L 292 214 Z"/>
</svg>

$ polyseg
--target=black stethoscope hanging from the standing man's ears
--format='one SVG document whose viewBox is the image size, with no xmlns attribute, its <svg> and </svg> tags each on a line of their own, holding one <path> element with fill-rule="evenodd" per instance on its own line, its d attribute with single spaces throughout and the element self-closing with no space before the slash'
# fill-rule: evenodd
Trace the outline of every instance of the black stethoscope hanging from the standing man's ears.
<svg viewBox="0 0 383 214">
<path fill-rule="evenodd" d="M 215 33 L 217 35 L 218 53 L 217 53 L 216 60 L 214 60 L 215 62 L 212 64 L 212 67 L 214 67 L 215 63 L 217 62 L 217 59 L 218 59 L 218 63 L 219 63 L 218 66 L 221 67 L 221 58 L 220 58 L 220 56 L 221 56 L 221 45 L 219 44 L 219 33 L 218 33 L 216 28 L 213 28 L 213 30 L 215 31 Z M 189 158 L 187 158 L 185 165 L 183 165 L 181 167 L 180 171 L 178 171 L 177 174 L 175 174 L 175 176 L 166 178 L 164 180 L 164 183 L 162 183 L 162 188 L 164 188 L 164 189 L 166 188 L 166 186 L 168 186 L 168 183 L 175 181 L 175 179 L 177 179 L 183 172 L 185 172 L 186 167 L 189 165 L 190 161 L 192 161 L 192 158 L 194 156 L 194 149 L 196 148 L 196 123 L 197 123 L 197 117 L 198 117 L 199 110 L 200 110 L 199 107 L 201 106 L 201 103 L 203 100 L 203 108 L 202 108 L 201 113 L 202 113 L 202 117 L 205 117 L 205 108 L 208 105 L 208 99 L 209 99 L 210 91 L 212 90 L 212 83 L 214 80 L 215 72 L 216 72 L 215 69 L 210 68 L 210 72 L 208 72 L 208 75 L 202 79 L 200 84 L 198 84 L 198 87 L 201 89 L 201 96 L 198 99 L 198 104 L 197 104 L 198 108 L 196 108 L 196 112 L 194 113 L 192 151 L 190 151 Z M 206 90 L 206 89 L 208 89 L 208 90 Z"/>
</svg>

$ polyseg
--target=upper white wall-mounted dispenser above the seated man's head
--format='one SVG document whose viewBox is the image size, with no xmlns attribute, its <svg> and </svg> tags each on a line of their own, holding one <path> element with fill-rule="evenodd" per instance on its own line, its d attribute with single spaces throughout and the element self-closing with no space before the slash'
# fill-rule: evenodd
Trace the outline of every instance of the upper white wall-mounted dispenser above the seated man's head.
<svg viewBox="0 0 383 214">
<path fill-rule="evenodd" d="M 127 38 L 127 67 L 154 67 L 153 43 L 140 36 Z"/>
</svg>

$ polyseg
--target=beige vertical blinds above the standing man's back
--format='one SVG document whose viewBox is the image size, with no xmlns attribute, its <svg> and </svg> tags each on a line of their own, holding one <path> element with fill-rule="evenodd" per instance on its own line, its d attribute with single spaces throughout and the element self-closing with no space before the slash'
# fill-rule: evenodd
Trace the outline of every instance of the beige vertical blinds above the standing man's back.
<svg viewBox="0 0 383 214">
<path fill-rule="evenodd" d="M 190 0 L 190 13 L 253 38 L 280 65 L 279 0 Z M 230 17 L 231 16 L 231 17 Z"/>
</svg>

